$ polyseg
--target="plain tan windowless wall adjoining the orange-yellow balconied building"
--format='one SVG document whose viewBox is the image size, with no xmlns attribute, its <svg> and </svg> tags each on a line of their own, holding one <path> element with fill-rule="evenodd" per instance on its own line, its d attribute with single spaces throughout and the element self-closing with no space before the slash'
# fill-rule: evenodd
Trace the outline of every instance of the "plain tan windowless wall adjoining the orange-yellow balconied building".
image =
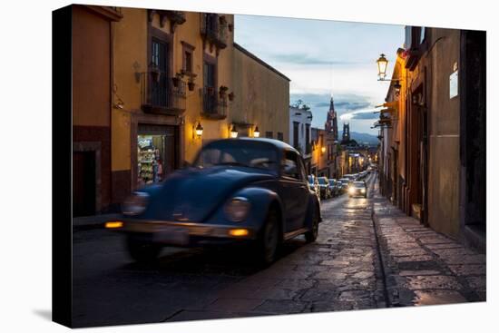
<svg viewBox="0 0 499 333">
<path fill-rule="evenodd" d="M 262 137 L 282 132 L 289 142 L 289 81 L 234 48 L 234 87 L 231 120 L 258 125 Z"/>
</svg>

